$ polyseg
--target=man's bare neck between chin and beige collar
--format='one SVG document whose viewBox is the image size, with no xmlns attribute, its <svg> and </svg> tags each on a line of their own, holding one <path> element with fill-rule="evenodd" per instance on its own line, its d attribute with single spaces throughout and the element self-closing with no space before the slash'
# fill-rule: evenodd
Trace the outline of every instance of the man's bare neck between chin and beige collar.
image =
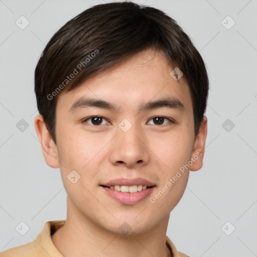
<svg viewBox="0 0 257 257">
<path fill-rule="evenodd" d="M 152 230 L 123 235 L 95 224 L 77 211 L 69 199 L 67 210 L 65 224 L 51 236 L 55 247 L 64 256 L 172 256 L 166 245 L 169 216 Z"/>
</svg>

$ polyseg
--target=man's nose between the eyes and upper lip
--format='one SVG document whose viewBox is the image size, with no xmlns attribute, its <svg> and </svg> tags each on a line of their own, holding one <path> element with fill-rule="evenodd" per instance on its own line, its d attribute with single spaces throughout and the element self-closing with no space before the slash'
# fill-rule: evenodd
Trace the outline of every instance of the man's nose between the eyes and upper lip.
<svg viewBox="0 0 257 257">
<path fill-rule="evenodd" d="M 144 132 L 137 125 L 129 131 L 117 127 L 117 134 L 110 147 L 110 162 L 127 168 L 141 167 L 149 163 L 149 146 Z"/>
</svg>

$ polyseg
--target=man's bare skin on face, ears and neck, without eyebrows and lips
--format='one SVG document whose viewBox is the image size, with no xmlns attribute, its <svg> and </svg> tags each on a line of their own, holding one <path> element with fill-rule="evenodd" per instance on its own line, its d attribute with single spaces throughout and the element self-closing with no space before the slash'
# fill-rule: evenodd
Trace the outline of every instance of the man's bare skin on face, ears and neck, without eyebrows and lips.
<svg viewBox="0 0 257 257">
<path fill-rule="evenodd" d="M 170 212 L 185 191 L 189 169 L 156 202 L 149 198 L 197 153 L 202 155 L 190 170 L 202 167 L 207 135 L 204 117 L 195 140 L 189 87 L 183 77 L 175 81 L 170 76 L 172 70 L 163 52 L 148 49 L 70 92 L 61 92 L 56 106 L 56 145 L 43 117 L 35 117 L 45 161 L 60 168 L 68 195 L 66 223 L 52 235 L 63 255 L 172 256 L 165 235 Z M 81 96 L 109 101 L 119 111 L 87 107 L 72 113 L 69 109 Z M 142 103 L 167 96 L 179 99 L 184 111 L 168 107 L 138 111 Z M 102 123 L 83 121 L 89 116 L 103 117 Z M 175 123 L 164 119 L 160 125 L 153 119 L 156 116 Z M 132 124 L 127 132 L 118 126 L 124 118 Z M 75 184 L 67 179 L 72 170 L 81 176 Z M 121 177 L 144 178 L 156 187 L 137 204 L 121 204 L 99 186 Z M 124 221 L 131 228 L 129 234 L 119 229 Z"/>
</svg>

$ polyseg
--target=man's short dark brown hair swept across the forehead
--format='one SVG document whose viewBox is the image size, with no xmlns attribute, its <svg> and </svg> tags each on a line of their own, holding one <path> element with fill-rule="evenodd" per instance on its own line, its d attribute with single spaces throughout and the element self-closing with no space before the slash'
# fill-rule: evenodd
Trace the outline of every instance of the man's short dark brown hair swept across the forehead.
<svg viewBox="0 0 257 257">
<path fill-rule="evenodd" d="M 209 89 L 201 55 L 177 22 L 164 12 L 132 2 L 114 2 L 93 6 L 68 21 L 50 39 L 38 61 L 37 106 L 55 144 L 59 92 L 70 91 L 147 48 L 163 50 L 169 65 L 183 72 L 191 92 L 197 136 Z"/>
</svg>

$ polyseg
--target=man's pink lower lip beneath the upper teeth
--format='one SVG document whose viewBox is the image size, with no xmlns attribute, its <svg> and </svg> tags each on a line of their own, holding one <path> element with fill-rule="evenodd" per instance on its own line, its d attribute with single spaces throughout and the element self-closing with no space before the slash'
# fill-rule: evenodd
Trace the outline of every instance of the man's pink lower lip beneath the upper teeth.
<svg viewBox="0 0 257 257">
<path fill-rule="evenodd" d="M 114 189 L 110 189 L 108 187 L 102 187 L 111 197 L 113 197 L 115 200 L 122 204 L 136 204 L 145 199 L 147 196 L 149 196 L 153 190 L 154 187 L 150 187 L 147 189 L 144 189 L 142 191 L 138 191 L 136 193 L 127 193 L 127 192 L 119 192 Z"/>
</svg>

